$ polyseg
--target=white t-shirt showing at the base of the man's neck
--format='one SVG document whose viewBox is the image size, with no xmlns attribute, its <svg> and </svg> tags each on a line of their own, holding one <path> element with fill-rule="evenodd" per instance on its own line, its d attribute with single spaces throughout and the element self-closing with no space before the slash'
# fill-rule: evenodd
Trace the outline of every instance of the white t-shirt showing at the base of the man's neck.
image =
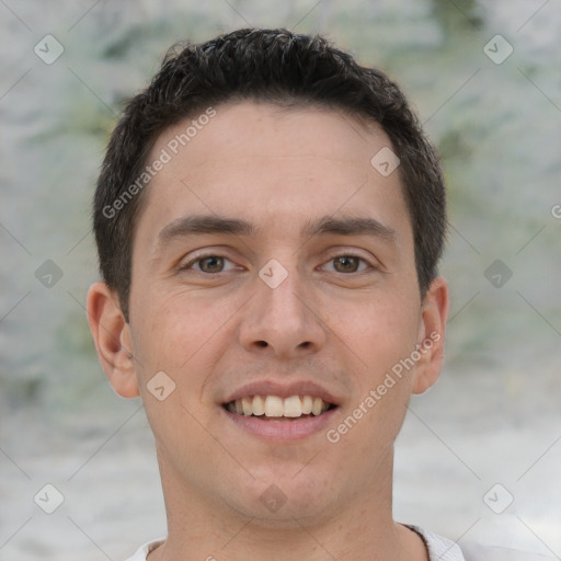
<svg viewBox="0 0 561 561">
<path fill-rule="evenodd" d="M 424 530 L 419 526 L 409 528 L 416 531 L 426 545 L 430 561 L 557 561 L 557 558 L 538 553 L 526 553 L 514 549 L 483 547 L 478 543 L 466 543 L 460 547 L 449 539 Z M 150 551 L 163 543 L 165 538 L 145 543 L 126 561 L 146 561 Z"/>
</svg>

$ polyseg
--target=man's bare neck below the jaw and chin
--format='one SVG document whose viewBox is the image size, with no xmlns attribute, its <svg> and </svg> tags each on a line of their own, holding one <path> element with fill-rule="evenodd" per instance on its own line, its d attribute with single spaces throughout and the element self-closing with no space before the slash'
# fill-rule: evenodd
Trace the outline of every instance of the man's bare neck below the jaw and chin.
<svg viewBox="0 0 561 561">
<path fill-rule="evenodd" d="M 158 454 L 168 516 L 168 538 L 148 561 L 426 561 L 422 539 L 392 518 L 392 457 L 382 462 L 369 489 L 345 503 L 331 503 L 314 516 L 275 519 L 241 514 L 224 501 L 185 485 Z M 280 513 L 280 511 L 279 511 Z"/>
</svg>

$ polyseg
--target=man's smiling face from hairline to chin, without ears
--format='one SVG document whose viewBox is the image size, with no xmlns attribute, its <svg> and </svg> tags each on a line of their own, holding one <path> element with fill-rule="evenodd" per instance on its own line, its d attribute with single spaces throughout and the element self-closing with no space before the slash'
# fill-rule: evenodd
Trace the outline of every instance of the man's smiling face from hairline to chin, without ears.
<svg viewBox="0 0 561 561">
<path fill-rule="evenodd" d="M 333 516 L 391 483 L 409 397 L 437 359 L 376 390 L 442 309 L 420 299 L 398 172 L 370 164 L 390 147 L 380 128 L 322 108 L 215 108 L 176 154 L 192 119 L 159 138 L 149 162 L 172 158 L 135 233 L 126 337 L 164 490 L 256 520 Z M 257 415 L 254 396 L 272 414 L 307 411 L 304 396 L 330 409 Z"/>
</svg>

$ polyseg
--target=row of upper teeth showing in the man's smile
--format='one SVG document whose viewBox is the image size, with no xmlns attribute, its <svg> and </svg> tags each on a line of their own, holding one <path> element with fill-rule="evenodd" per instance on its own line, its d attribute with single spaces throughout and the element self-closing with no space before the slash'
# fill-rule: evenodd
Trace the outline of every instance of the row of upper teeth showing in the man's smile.
<svg viewBox="0 0 561 561">
<path fill-rule="evenodd" d="M 301 415 L 321 415 L 330 408 L 330 404 L 321 398 L 312 396 L 290 396 L 283 399 L 278 396 L 253 396 L 237 399 L 227 404 L 228 411 L 239 415 L 265 415 L 272 417 L 291 417 Z"/>
</svg>

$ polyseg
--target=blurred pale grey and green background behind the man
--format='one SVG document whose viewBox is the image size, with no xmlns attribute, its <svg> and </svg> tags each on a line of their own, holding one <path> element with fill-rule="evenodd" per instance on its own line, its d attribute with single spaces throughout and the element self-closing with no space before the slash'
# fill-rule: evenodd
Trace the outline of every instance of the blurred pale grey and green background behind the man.
<svg viewBox="0 0 561 561">
<path fill-rule="evenodd" d="M 559 2 L 0 0 L 0 560 L 118 561 L 165 534 L 144 409 L 111 390 L 85 320 L 90 201 L 167 48 L 244 26 L 380 67 L 444 158 L 447 359 L 397 444 L 396 518 L 559 558 Z"/>
</svg>

